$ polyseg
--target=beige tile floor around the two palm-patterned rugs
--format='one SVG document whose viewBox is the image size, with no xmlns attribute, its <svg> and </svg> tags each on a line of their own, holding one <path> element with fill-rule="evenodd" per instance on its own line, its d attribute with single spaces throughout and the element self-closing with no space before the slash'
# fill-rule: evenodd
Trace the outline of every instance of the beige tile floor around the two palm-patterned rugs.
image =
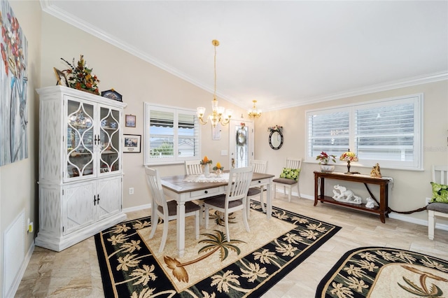
<svg viewBox="0 0 448 298">
<path fill-rule="evenodd" d="M 448 260 L 448 232 L 435 230 L 428 240 L 426 226 L 277 194 L 274 206 L 339 225 L 321 248 L 276 283 L 262 297 L 314 297 L 325 273 L 347 251 L 363 246 L 386 246 L 413 250 Z M 426 211 L 424 211 L 426 212 Z M 128 213 L 129 219 L 150 215 L 151 210 Z M 250 225 L 250 221 L 249 221 Z M 298 294 L 300 293 L 300 295 Z M 299 295 L 299 296 L 297 296 Z M 104 297 L 94 239 L 90 237 L 60 253 L 36 247 L 15 297 Z"/>
</svg>

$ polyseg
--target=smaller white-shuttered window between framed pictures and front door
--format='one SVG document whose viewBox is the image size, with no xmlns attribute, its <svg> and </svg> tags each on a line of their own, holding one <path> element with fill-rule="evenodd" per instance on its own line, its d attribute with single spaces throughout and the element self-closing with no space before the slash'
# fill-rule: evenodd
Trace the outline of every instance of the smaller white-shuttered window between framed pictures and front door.
<svg viewBox="0 0 448 298">
<path fill-rule="evenodd" d="M 145 103 L 145 164 L 173 164 L 200 158 L 196 112 Z"/>
</svg>

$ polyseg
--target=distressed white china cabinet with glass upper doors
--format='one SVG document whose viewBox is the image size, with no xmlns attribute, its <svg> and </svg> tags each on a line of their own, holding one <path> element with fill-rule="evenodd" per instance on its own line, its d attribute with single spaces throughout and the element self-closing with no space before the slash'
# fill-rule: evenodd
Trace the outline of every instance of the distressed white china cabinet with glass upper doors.
<svg viewBox="0 0 448 298">
<path fill-rule="evenodd" d="M 121 141 L 126 104 L 59 85 L 37 92 L 36 246 L 61 251 L 126 219 Z"/>
</svg>

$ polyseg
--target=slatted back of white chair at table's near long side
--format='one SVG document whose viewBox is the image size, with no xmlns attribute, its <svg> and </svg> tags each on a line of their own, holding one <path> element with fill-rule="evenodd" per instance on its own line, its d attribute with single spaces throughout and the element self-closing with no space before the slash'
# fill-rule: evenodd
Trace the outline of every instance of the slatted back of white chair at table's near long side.
<svg viewBox="0 0 448 298">
<path fill-rule="evenodd" d="M 230 169 L 226 200 L 235 201 L 247 196 L 252 181 L 252 166 Z"/>
</svg>

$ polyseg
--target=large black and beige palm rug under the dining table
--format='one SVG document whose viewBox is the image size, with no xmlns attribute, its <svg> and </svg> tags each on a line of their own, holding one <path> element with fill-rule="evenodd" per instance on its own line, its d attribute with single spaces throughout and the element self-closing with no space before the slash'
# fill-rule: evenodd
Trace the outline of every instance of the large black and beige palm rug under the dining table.
<svg viewBox="0 0 448 298">
<path fill-rule="evenodd" d="M 106 297 L 260 297 L 339 231 L 340 227 L 272 208 L 267 220 L 251 201 L 250 232 L 241 211 L 230 218 L 230 242 L 221 218 L 195 239 L 194 217 L 186 218 L 186 252 L 176 250 L 176 221 L 169 222 L 165 249 L 151 217 L 121 222 L 95 235 Z"/>
</svg>

